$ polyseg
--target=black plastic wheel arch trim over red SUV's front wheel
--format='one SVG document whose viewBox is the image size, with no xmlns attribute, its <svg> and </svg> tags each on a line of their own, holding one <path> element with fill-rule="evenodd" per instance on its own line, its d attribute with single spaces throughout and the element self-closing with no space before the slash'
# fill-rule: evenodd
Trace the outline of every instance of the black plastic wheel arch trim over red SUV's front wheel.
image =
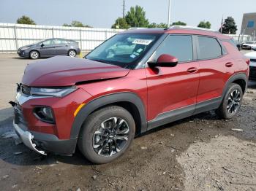
<svg viewBox="0 0 256 191">
<path fill-rule="evenodd" d="M 80 109 L 72 124 L 70 139 L 78 138 L 80 128 L 89 114 L 109 105 L 122 106 L 132 114 L 132 117 L 135 119 L 137 134 L 146 131 L 146 109 L 140 97 L 135 93 L 129 92 L 113 93 L 110 95 L 104 95 L 100 98 L 95 98 Z"/>
</svg>

